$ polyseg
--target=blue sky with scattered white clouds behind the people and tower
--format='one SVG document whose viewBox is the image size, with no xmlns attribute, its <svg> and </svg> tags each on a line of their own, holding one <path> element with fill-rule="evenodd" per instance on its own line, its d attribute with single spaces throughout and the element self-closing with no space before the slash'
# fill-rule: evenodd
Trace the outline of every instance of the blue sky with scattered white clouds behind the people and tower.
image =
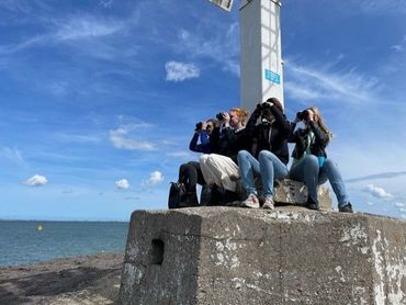
<svg viewBox="0 0 406 305">
<path fill-rule="evenodd" d="M 281 14 L 286 116 L 318 106 L 354 210 L 406 218 L 406 1 Z M 238 105 L 238 1 L 0 0 L 0 218 L 166 208 L 195 123 Z"/>
</svg>

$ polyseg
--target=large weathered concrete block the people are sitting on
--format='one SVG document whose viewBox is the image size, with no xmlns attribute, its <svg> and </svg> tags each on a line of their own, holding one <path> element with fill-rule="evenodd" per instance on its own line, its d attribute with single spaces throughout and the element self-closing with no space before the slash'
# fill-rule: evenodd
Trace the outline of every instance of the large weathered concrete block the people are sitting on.
<svg viewBox="0 0 406 305">
<path fill-rule="evenodd" d="M 119 303 L 406 304 L 405 236 L 366 214 L 138 211 Z"/>
</svg>

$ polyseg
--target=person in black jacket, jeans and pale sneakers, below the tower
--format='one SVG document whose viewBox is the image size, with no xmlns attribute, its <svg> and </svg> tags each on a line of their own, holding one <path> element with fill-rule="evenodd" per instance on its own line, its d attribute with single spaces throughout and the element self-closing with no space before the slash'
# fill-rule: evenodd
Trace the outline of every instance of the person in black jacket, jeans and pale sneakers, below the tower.
<svg viewBox="0 0 406 305">
<path fill-rule="evenodd" d="M 256 124 L 260 118 L 260 123 Z M 238 152 L 238 166 L 248 197 L 243 206 L 260 206 L 255 176 L 260 176 L 263 188 L 263 208 L 273 208 L 273 183 L 287 176 L 287 138 L 291 124 L 283 114 L 283 108 L 275 98 L 258 104 L 248 121 L 246 133 L 252 138 L 251 149 Z"/>
</svg>

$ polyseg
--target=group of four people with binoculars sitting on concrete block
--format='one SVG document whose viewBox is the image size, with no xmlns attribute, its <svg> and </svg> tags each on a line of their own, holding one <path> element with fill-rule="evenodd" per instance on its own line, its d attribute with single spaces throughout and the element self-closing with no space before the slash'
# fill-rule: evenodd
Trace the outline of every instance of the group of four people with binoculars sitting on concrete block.
<svg viewBox="0 0 406 305">
<path fill-rule="evenodd" d="M 300 122 L 303 127 L 296 126 Z M 319 208 L 317 187 L 328 180 L 337 196 L 338 210 L 352 213 L 341 174 L 327 158 L 326 147 L 331 138 L 317 108 L 297 112 L 290 122 L 275 98 L 259 103 L 249 117 L 247 111 L 234 108 L 217 114 L 216 118 L 198 123 L 189 148 L 203 155 L 199 162 L 190 161 L 179 169 L 178 183 L 184 188 L 184 194 L 178 207 L 200 205 L 198 183 L 210 193 L 206 205 L 236 202 L 240 180 L 246 197 L 239 206 L 272 210 L 275 180 L 290 178 L 307 187 L 307 208 Z M 290 169 L 287 143 L 295 144 Z M 256 178 L 261 181 L 261 194 Z"/>
</svg>

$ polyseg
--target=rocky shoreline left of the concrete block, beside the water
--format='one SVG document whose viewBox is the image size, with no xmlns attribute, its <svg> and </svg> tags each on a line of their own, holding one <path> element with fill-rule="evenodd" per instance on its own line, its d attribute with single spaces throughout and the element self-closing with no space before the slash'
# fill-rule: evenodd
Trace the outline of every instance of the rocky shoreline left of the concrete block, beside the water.
<svg viewBox="0 0 406 305">
<path fill-rule="evenodd" d="M 123 253 L 0 268 L 1 304 L 114 304 Z"/>
</svg>

